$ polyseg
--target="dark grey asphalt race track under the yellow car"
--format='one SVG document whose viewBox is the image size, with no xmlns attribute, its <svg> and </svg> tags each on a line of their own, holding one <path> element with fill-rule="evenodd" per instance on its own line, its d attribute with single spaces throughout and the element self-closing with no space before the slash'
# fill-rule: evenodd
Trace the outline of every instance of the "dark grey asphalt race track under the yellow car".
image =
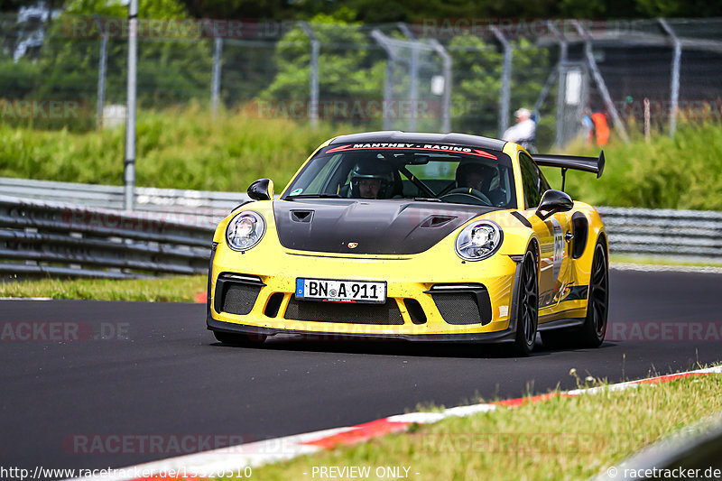
<svg viewBox="0 0 722 481">
<path fill-rule="evenodd" d="M 663 323 L 722 323 L 720 281 L 719 274 L 612 271 L 610 321 L 636 326 L 637 337 L 630 328 L 627 340 L 597 349 L 539 348 L 528 358 L 507 356 L 504 347 L 288 338 L 261 349 L 224 347 L 206 330 L 200 304 L 0 301 L 0 466 L 125 467 L 193 451 L 211 435 L 218 444 L 267 439 L 420 403 L 573 388 L 572 367 L 609 382 L 695 368 L 722 360 L 717 338 L 654 333 Z M 43 340 L 52 334 L 39 328 L 46 322 L 77 328 L 85 340 Z M 18 323 L 31 323 L 35 339 L 9 339 L 27 334 Z M 143 445 L 145 435 L 162 439 L 161 452 Z M 173 441 L 183 439 L 190 441 L 179 451 Z"/>
</svg>

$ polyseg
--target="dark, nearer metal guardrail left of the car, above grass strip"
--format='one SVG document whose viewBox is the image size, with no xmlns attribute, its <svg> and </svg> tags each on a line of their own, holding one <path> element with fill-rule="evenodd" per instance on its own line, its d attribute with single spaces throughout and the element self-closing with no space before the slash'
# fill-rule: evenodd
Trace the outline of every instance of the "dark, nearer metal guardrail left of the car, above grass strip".
<svg viewBox="0 0 722 481">
<path fill-rule="evenodd" d="M 112 279 L 208 273 L 215 225 L 179 216 L 0 195 L 0 273 Z"/>
</svg>

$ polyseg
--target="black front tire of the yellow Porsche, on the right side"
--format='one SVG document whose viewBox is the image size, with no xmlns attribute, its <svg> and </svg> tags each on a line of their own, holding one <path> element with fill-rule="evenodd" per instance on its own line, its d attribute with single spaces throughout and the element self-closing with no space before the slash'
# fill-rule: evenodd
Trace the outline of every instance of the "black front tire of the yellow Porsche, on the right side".
<svg viewBox="0 0 722 481">
<path fill-rule="evenodd" d="M 516 302 L 514 353 L 517 356 L 529 356 L 534 348 L 539 323 L 539 281 L 532 251 L 524 254 L 521 275 Z"/>
</svg>

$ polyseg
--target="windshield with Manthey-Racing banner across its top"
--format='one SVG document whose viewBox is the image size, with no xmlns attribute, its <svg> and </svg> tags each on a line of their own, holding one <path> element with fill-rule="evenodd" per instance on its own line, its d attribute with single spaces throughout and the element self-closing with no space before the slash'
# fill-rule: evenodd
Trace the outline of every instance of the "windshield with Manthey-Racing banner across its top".
<svg viewBox="0 0 722 481">
<path fill-rule="evenodd" d="M 516 208 L 508 155 L 426 143 L 349 143 L 317 153 L 282 199 L 417 199 Z"/>
</svg>

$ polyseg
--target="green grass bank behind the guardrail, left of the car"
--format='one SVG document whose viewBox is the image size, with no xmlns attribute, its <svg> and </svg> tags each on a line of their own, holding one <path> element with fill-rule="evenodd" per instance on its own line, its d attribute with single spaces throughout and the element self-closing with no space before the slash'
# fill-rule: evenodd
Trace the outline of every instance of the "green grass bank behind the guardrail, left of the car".
<svg viewBox="0 0 722 481">
<path fill-rule="evenodd" d="M 245 191 L 270 177 L 280 190 L 320 143 L 344 127 L 314 130 L 244 111 L 214 120 L 199 106 L 141 111 L 137 124 L 137 185 Z M 123 184 L 125 128 L 71 133 L 0 124 L 0 176 Z"/>
</svg>

